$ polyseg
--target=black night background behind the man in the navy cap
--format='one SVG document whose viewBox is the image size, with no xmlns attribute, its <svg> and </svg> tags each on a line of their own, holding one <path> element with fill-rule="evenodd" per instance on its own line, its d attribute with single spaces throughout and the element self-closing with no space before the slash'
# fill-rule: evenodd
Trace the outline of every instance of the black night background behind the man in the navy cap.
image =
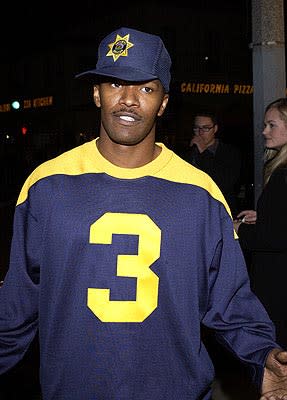
<svg viewBox="0 0 287 400">
<path fill-rule="evenodd" d="M 223 140 L 242 150 L 242 201 L 252 202 L 252 95 L 181 91 L 183 82 L 252 85 L 251 1 L 184 4 L 2 2 L 0 105 L 46 96 L 53 104 L 0 112 L 0 280 L 8 268 L 13 207 L 24 179 L 40 162 L 97 135 L 99 113 L 91 87 L 74 76 L 95 67 L 99 41 L 121 26 L 159 34 L 173 61 L 170 102 L 158 139 L 180 152 L 193 112 L 203 106 L 216 111 Z M 1 378 L 0 400 L 38 398 L 37 351 L 35 341 L 23 362 Z"/>
</svg>

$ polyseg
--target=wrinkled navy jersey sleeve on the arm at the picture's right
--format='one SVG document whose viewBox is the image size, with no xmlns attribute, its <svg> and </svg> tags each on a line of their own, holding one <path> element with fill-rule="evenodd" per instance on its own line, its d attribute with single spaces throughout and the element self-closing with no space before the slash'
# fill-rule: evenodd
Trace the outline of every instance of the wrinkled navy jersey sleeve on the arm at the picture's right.
<svg viewBox="0 0 287 400">
<path fill-rule="evenodd" d="M 265 359 L 274 347 L 275 331 L 266 310 L 250 289 L 249 276 L 231 221 L 222 218 L 222 240 L 210 267 L 210 293 L 203 324 L 244 364 L 260 386 Z"/>
</svg>

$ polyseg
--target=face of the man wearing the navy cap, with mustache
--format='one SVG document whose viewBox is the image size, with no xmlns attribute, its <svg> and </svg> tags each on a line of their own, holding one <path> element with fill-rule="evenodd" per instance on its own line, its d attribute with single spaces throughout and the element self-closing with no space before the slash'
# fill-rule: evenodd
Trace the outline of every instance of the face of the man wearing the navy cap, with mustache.
<svg viewBox="0 0 287 400">
<path fill-rule="evenodd" d="M 101 134 L 132 146 L 149 136 L 154 139 L 156 117 L 163 114 L 168 94 L 159 80 L 113 80 L 94 87 L 94 100 L 101 108 Z"/>
</svg>

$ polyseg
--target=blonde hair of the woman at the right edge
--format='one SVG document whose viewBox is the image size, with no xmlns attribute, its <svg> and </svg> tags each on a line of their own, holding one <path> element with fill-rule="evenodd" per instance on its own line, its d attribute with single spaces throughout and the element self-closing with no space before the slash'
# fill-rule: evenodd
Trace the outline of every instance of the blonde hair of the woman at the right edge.
<svg viewBox="0 0 287 400">
<path fill-rule="evenodd" d="M 279 112 L 281 120 L 284 122 L 287 131 L 287 98 L 282 97 L 268 104 L 267 111 L 275 109 Z M 264 153 L 264 186 L 270 179 L 274 170 L 278 167 L 287 166 L 287 143 L 280 150 L 266 148 Z"/>
</svg>

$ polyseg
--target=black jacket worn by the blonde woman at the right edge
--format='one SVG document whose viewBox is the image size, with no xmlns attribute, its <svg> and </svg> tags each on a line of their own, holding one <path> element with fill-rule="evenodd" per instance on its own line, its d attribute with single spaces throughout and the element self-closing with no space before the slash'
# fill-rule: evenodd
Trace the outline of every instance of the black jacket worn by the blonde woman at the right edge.
<svg viewBox="0 0 287 400">
<path fill-rule="evenodd" d="M 274 321 L 278 342 L 287 348 L 287 168 L 273 172 L 257 203 L 256 224 L 241 224 L 241 247 L 251 251 L 253 291 Z"/>
</svg>

